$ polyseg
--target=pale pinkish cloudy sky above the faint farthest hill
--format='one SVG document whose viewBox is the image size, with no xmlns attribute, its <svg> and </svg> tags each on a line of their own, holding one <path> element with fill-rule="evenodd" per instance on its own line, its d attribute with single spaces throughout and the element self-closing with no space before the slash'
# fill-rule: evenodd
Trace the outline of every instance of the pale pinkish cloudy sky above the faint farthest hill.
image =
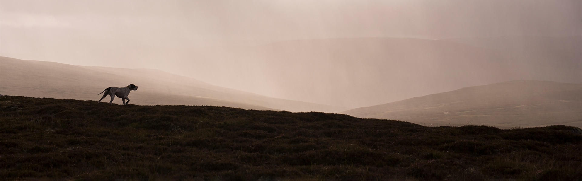
<svg viewBox="0 0 582 181">
<path fill-rule="evenodd" d="M 569 0 L 0 0 L 0 56 L 186 75 L 180 62 L 196 64 L 200 57 L 184 52 L 205 46 L 356 37 L 567 37 L 582 33 L 581 13 L 581 1 Z M 193 78 L 229 87 L 219 78 Z"/>
</svg>

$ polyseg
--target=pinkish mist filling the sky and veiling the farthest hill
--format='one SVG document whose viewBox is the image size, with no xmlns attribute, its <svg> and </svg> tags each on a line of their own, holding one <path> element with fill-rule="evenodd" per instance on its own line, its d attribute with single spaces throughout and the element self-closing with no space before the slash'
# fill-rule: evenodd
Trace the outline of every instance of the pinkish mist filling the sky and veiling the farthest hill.
<svg viewBox="0 0 582 181">
<path fill-rule="evenodd" d="M 352 108 L 519 79 L 580 84 L 581 33 L 581 1 L 0 1 L 1 56 Z"/>
</svg>

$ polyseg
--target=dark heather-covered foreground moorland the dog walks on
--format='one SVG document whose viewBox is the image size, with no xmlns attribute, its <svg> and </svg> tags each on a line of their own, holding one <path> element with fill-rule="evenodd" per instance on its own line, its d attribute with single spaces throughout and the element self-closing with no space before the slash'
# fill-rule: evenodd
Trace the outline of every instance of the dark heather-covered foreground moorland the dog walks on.
<svg viewBox="0 0 582 181">
<path fill-rule="evenodd" d="M 582 180 L 580 128 L 0 97 L 0 178 Z"/>
</svg>

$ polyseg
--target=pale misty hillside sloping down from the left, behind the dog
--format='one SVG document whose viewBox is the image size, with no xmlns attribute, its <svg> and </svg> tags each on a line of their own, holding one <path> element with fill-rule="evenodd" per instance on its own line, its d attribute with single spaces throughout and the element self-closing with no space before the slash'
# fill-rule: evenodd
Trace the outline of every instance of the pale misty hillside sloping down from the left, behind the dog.
<svg viewBox="0 0 582 181">
<path fill-rule="evenodd" d="M 135 84 L 132 104 L 208 105 L 255 110 L 339 112 L 348 108 L 276 99 L 207 84 L 153 69 L 72 66 L 49 61 L 0 57 L 0 93 L 3 95 L 99 100 L 109 86 Z M 119 99 L 119 98 L 116 98 Z M 108 102 L 108 98 L 106 98 Z M 120 100 L 113 100 L 121 103 Z"/>
</svg>

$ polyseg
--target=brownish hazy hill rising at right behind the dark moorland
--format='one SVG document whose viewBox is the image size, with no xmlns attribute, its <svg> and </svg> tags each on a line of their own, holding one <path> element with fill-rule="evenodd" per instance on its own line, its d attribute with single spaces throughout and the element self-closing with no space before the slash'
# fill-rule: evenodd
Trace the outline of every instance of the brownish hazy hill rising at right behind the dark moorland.
<svg viewBox="0 0 582 181">
<path fill-rule="evenodd" d="M 342 112 L 426 125 L 478 124 L 582 127 L 582 85 L 552 81 L 508 81 L 472 86 Z"/>
</svg>

